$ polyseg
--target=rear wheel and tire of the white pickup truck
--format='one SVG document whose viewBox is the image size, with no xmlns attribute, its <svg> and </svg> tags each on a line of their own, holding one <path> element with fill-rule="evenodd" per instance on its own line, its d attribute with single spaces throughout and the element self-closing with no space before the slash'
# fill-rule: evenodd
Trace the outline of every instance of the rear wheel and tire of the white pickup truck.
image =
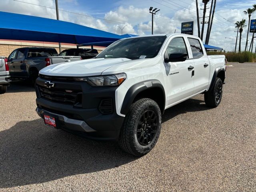
<svg viewBox="0 0 256 192">
<path fill-rule="evenodd" d="M 223 84 L 220 78 L 216 78 L 212 90 L 204 93 L 204 102 L 206 106 L 215 108 L 220 104 L 222 99 Z"/>
</svg>

